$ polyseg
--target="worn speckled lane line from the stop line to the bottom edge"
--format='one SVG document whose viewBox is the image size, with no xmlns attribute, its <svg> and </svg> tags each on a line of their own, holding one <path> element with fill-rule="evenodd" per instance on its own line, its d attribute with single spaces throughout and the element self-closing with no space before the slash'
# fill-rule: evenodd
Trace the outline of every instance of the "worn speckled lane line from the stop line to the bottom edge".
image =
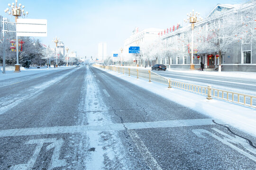
<svg viewBox="0 0 256 170">
<path fill-rule="evenodd" d="M 147 166 L 151 170 L 162 170 L 162 168 L 159 166 L 155 158 L 152 156 L 152 154 L 148 151 L 146 145 L 144 142 L 139 138 L 137 133 L 134 130 L 128 130 L 129 135 L 131 136 L 134 144 L 136 144 L 137 149 L 141 153 L 144 160 L 147 162 Z"/>
</svg>

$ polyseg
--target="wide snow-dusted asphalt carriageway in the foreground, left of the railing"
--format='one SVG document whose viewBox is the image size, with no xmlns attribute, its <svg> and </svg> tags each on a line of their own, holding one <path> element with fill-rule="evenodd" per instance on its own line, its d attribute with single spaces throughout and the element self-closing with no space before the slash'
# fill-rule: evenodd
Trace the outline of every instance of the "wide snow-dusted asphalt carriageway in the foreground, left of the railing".
<svg viewBox="0 0 256 170">
<path fill-rule="evenodd" d="M 247 140 L 98 68 L 9 80 L 0 100 L 0 170 L 256 169 Z"/>
</svg>

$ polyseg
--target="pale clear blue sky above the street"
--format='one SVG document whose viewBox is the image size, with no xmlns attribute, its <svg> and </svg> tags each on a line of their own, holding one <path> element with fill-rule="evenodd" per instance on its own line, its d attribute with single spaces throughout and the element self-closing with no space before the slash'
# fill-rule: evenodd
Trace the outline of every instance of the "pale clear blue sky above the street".
<svg viewBox="0 0 256 170">
<path fill-rule="evenodd" d="M 0 0 L 0 15 L 15 0 Z M 183 23 L 192 9 L 206 17 L 219 4 L 245 0 L 18 0 L 29 12 L 27 18 L 47 19 L 48 36 L 38 37 L 54 48 L 59 37 L 80 57 L 96 56 L 99 42 L 107 42 L 108 53 L 123 46 L 135 27 L 163 28 Z M 9 17 L 14 21 L 14 17 Z"/>
</svg>

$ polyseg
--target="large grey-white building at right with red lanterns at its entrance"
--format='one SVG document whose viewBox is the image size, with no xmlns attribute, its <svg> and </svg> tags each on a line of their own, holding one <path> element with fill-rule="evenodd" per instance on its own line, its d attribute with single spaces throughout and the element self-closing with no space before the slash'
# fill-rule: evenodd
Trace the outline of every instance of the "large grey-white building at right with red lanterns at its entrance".
<svg viewBox="0 0 256 170">
<path fill-rule="evenodd" d="M 193 37 L 191 24 L 160 39 L 169 42 L 170 55 L 161 55 L 158 63 L 170 68 L 205 68 L 225 71 L 256 71 L 256 4 L 218 4 L 202 22 L 196 23 Z M 221 53 L 221 57 L 219 57 Z M 170 59 L 170 62 L 168 62 Z M 221 61 L 219 60 L 221 59 Z"/>
</svg>

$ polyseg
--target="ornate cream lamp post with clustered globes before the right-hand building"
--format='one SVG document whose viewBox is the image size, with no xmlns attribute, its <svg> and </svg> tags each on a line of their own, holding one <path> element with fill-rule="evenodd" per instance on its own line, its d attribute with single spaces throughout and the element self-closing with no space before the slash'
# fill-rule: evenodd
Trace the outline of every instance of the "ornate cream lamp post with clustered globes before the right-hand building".
<svg viewBox="0 0 256 170">
<path fill-rule="evenodd" d="M 191 40 L 192 45 L 191 45 L 191 61 L 190 61 L 190 69 L 192 69 L 192 70 L 195 69 L 194 64 L 193 64 L 194 26 L 195 26 L 195 23 L 202 21 L 201 17 L 199 18 L 200 20 L 197 19 L 197 16 L 199 16 L 199 15 L 200 15 L 200 13 L 198 13 L 198 12 L 195 12 L 195 14 L 194 14 L 194 9 L 193 9 L 192 12 L 187 14 L 188 18 L 184 19 L 184 22 L 186 22 L 186 23 L 189 22 L 189 23 L 191 23 L 191 26 L 192 26 L 192 40 Z"/>
</svg>

